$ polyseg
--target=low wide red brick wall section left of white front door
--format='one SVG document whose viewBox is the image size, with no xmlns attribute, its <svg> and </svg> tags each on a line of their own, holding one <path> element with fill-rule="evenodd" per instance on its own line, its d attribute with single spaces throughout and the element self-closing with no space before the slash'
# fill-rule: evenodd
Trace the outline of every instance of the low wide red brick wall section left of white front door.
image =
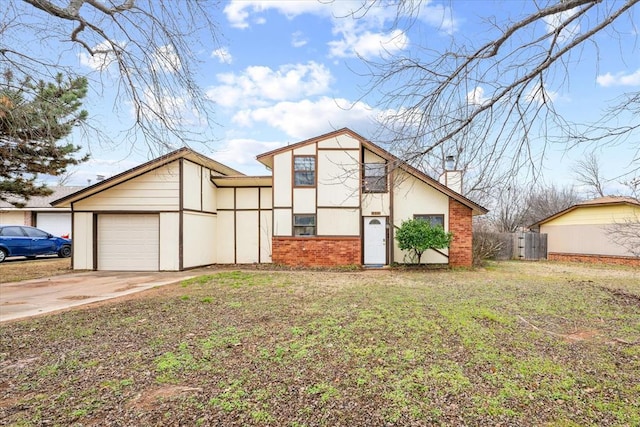
<svg viewBox="0 0 640 427">
<path fill-rule="evenodd" d="M 362 263 L 359 237 L 274 237 L 272 260 L 294 267 L 332 267 Z"/>
</svg>

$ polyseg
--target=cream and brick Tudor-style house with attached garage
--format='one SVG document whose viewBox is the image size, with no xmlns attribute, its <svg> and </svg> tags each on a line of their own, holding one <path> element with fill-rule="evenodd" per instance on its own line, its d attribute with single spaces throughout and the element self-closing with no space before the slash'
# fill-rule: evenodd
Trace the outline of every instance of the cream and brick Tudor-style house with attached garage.
<svg viewBox="0 0 640 427">
<path fill-rule="evenodd" d="M 350 129 L 257 159 L 271 176 L 180 149 L 57 200 L 73 216 L 73 268 L 384 266 L 407 261 L 394 230 L 416 217 L 453 232 L 423 262 L 472 263 L 472 216 L 487 210 Z"/>
</svg>

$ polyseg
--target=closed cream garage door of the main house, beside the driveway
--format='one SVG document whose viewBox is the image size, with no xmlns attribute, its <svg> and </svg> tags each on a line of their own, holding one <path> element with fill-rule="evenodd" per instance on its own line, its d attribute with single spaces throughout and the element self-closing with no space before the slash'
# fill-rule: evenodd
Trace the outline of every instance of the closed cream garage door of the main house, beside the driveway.
<svg viewBox="0 0 640 427">
<path fill-rule="evenodd" d="M 158 271 L 160 217 L 98 215 L 98 270 Z"/>
</svg>

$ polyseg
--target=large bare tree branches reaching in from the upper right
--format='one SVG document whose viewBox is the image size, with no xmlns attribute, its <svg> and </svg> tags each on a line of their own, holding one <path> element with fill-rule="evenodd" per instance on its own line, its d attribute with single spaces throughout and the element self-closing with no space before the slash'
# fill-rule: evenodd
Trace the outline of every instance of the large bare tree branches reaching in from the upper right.
<svg viewBox="0 0 640 427">
<path fill-rule="evenodd" d="M 423 2 L 400 2 L 397 25 L 413 24 Z M 446 50 L 412 46 L 401 54 L 367 62 L 383 119 L 381 138 L 414 164 L 456 154 L 472 160 L 478 183 L 539 176 L 549 145 L 631 144 L 632 172 L 640 170 L 640 93 L 614 101 L 600 120 L 572 123 L 554 107 L 554 91 L 570 80 L 586 49 L 597 52 L 599 35 L 621 38 L 618 26 L 634 27 L 640 0 L 548 0 L 508 22 L 486 18 L 476 40 L 452 35 Z M 490 11 L 487 11 L 491 13 Z M 479 11 L 482 13 L 482 11 Z M 637 32 L 636 32 L 637 34 Z M 628 33 L 627 33 L 628 35 Z M 631 35 L 633 37 L 633 35 Z M 638 55 L 637 43 L 623 57 Z M 622 44 L 621 44 L 622 47 Z M 596 55 L 597 56 L 597 55 Z M 598 63 L 587 64 L 598 68 Z M 609 119 L 617 118 L 609 125 Z M 625 139 L 626 138 L 626 139 Z M 635 145 L 634 145 L 635 144 Z M 521 179 L 521 177 L 518 177 Z M 490 185 L 490 184 L 489 184 Z"/>
</svg>

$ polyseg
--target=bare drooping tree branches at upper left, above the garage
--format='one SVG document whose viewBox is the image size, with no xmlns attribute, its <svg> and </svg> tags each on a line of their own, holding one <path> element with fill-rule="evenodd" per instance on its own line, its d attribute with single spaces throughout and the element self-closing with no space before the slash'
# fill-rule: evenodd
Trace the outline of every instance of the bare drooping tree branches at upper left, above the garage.
<svg viewBox="0 0 640 427">
<path fill-rule="evenodd" d="M 217 41 L 216 2 L 7 0 L 2 9 L 0 68 L 47 78 L 91 66 L 90 84 L 113 84 L 114 110 L 132 112 L 131 141 L 188 140 L 189 126 L 210 119 L 194 66 L 203 40 Z"/>
</svg>

